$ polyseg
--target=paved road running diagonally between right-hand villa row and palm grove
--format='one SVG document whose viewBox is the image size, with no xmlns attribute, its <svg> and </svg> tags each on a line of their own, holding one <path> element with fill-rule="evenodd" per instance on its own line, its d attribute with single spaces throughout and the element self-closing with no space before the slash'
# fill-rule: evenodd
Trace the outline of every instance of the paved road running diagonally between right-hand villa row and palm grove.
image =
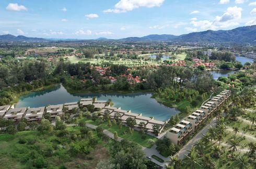
<svg viewBox="0 0 256 169">
<path fill-rule="evenodd" d="M 199 133 L 197 133 L 189 142 L 183 146 L 183 148 L 175 154 L 177 155 L 180 159 L 183 159 L 185 157 L 185 154 L 188 154 L 189 150 L 191 150 L 191 147 L 201 139 L 203 134 L 206 134 L 208 131 L 208 128 L 210 126 L 215 126 L 216 125 L 216 118 L 214 118 L 210 123 L 206 124 L 203 129 Z"/>
</svg>

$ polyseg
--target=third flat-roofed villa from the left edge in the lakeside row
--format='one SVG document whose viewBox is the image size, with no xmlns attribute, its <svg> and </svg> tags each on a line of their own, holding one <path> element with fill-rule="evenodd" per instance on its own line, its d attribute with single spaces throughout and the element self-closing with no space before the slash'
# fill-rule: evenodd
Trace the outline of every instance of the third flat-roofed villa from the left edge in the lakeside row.
<svg viewBox="0 0 256 169">
<path fill-rule="evenodd" d="M 27 122 L 41 122 L 45 107 L 29 108 L 26 112 L 25 119 Z"/>
</svg>

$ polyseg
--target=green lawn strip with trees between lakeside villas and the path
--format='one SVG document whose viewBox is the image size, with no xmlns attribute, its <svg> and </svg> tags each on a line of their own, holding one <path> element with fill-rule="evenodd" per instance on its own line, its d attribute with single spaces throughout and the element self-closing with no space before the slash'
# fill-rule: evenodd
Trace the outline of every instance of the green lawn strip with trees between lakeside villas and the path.
<svg viewBox="0 0 256 169">
<path fill-rule="evenodd" d="M 88 120 L 86 118 L 83 118 L 82 120 L 85 120 L 86 123 L 90 123 L 90 124 L 94 124 L 97 126 L 100 126 L 104 129 L 107 129 L 108 131 L 110 131 L 111 133 L 117 132 L 119 137 L 122 137 L 124 139 L 127 139 L 129 141 L 134 141 L 137 142 L 139 145 L 142 145 L 143 147 L 147 147 L 150 148 L 150 145 L 148 144 L 147 140 L 148 139 L 153 139 L 154 141 L 157 140 L 157 138 L 146 135 L 145 139 L 142 139 L 142 135 L 141 133 L 139 133 L 138 131 L 134 130 L 133 134 L 131 133 L 126 133 L 125 135 L 123 135 L 123 132 L 125 132 L 128 127 L 126 126 L 122 126 L 122 128 L 120 129 L 119 126 L 117 124 L 112 124 L 112 126 L 108 126 L 108 123 L 105 122 L 103 124 L 98 125 L 96 122 L 92 121 L 92 120 Z"/>
</svg>

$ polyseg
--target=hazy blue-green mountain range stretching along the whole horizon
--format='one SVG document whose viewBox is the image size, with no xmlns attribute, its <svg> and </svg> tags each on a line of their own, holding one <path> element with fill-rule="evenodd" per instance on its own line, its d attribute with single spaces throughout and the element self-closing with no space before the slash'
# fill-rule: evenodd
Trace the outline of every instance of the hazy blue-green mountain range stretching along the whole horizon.
<svg viewBox="0 0 256 169">
<path fill-rule="evenodd" d="M 54 39 L 52 39 L 54 40 Z M 101 37 L 95 41 L 107 41 L 107 38 Z M 51 41 L 44 38 L 14 36 L 14 35 L 0 35 L 0 41 Z M 66 40 L 68 41 L 68 40 Z M 79 40 L 83 41 L 83 40 Z M 237 43 L 256 43 L 256 25 L 248 27 L 238 27 L 232 30 L 207 30 L 203 32 L 193 32 L 183 35 L 169 35 L 169 34 L 153 34 L 143 37 L 126 37 L 117 41 L 172 41 L 172 42 L 237 42 Z"/>
</svg>

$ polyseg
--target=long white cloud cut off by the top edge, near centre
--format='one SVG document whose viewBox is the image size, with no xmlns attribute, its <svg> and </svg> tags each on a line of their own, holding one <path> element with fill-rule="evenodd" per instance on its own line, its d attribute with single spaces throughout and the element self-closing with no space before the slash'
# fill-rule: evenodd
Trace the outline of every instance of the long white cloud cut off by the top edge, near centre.
<svg viewBox="0 0 256 169">
<path fill-rule="evenodd" d="M 118 14 L 122 12 L 132 11 L 133 9 L 139 7 L 159 7 L 162 5 L 162 3 L 164 3 L 164 1 L 165 0 L 120 0 L 117 4 L 115 4 L 114 9 L 106 9 L 103 10 L 103 12 L 113 12 Z"/>
</svg>

